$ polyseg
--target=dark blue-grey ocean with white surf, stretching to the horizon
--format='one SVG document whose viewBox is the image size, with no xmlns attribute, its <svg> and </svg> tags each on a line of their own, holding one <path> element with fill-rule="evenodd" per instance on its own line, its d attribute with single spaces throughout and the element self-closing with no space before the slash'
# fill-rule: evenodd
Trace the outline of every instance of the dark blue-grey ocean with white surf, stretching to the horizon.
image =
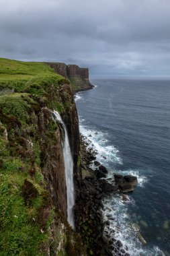
<svg viewBox="0 0 170 256">
<path fill-rule="evenodd" d="M 114 228 L 132 256 L 169 256 L 170 78 L 95 78 L 91 83 L 93 90 L 76 95 L 81 133 L 110 177 L 114 172 L 138 177 L 128 201 L 119 194 L 104 200 L 105 219 L 108 213 L 114 216 L 110 236 Z"/>
</svg>

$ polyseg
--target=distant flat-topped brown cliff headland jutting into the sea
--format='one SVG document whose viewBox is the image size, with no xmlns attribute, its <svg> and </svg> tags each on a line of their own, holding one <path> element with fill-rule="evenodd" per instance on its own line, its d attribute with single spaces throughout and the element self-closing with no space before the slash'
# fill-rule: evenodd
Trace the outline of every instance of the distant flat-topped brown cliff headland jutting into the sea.
<svg viewBox="0 0 170 256">
<path fill-rule="evenodd" d="M 75 92 L 92 89 L 89 82 L 89 69 L 77 65 L 66 65 L 65 63 L 46 63 L 54 69 L 56 73 L 70 80 Z"/>
</svg>

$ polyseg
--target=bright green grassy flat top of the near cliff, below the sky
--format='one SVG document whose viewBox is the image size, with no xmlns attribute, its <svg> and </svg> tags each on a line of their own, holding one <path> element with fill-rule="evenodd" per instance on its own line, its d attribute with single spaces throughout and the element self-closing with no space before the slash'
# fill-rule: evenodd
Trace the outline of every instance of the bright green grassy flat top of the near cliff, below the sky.
<svg viewBox="0 0 170 256">
<path fill-rule="evenodd" d="M 62 75 L 54 73 L 54 70 L 44 63 L 0 58 L 0 94 L 13 90 L 42 96 L 46 86 L 58 86 L 65 81 Z"/>
</svg>

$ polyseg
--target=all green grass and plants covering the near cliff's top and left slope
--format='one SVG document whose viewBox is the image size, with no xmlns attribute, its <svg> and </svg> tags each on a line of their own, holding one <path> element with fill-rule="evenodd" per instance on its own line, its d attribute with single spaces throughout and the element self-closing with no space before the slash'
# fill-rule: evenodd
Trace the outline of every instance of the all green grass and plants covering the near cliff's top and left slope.
<svg viewBox="0 0 170 256">
<path fill-rule="evenodd" d="M 58 102 L 56 91 L 65 82 L 68 81 L 44 63 L 0 58 L 1 256 L 44 255 L 41 248 L 48 239 L 53 213 L 42 230 L 40 218 L 50 206 L 43 189 L 36 113 L 42 106 L 62 110 L 64 106 Z M 56 123 L 50 122 L 45 132 L 52 140 Z M 24 137 L 25 133 L 28 137 Z"/>
</svg>

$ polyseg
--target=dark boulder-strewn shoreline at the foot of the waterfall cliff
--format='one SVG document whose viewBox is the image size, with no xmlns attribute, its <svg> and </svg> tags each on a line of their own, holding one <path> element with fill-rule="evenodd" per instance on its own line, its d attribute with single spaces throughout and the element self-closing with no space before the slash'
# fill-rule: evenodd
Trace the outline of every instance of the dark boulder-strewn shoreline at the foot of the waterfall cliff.
<svg viewBox="0 0 170 256">
<path fill-rule="evenodd" d="M 97 151 L 91 148 L 91 141 L 81 135 L 80 172 L 81 185 L 77 188 L 75 203 L 75 226 L 87 245 L 88 255 L 129 256 L 128 247 L 114 238 L 114 230 L 110 230 L 112 215 L 103 218 L 105 207 L 103 199 L 115 193 L 126 193 L 134 190 L 136 177 L 123 177 L 114 174 L 107 178 L 108 170 L 96 161 Z M 91 168 L 91 164 L 95 168 Z M 122 194 L 124 200 L 126 195 Z M 110 236 L 112 232 L 112 236 Z"/>
</svg>

